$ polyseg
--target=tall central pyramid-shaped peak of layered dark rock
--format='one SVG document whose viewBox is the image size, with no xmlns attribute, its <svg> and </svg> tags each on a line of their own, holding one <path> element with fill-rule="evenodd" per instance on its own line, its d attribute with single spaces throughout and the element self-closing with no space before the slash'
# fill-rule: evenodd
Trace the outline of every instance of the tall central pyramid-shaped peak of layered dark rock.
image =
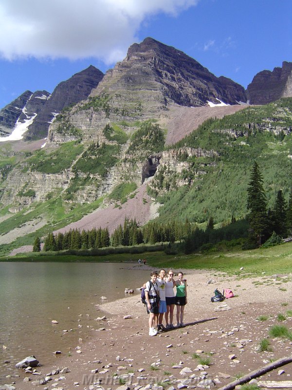
<svg viewBox="0 0 292 390">
<path fill-rule="evenodd" d="M 108 71 L 91 96 L 108 93 L 112 104 L 148 105 L 148 111 L 182 106 L 204 106 L 207 101 L 227 104 L 246 102 L 246 94 L 234 81 L 215 77 L 199 62 L 174 47 L 152 38 L 134 43 L 127 57 Z"/>
</svg>

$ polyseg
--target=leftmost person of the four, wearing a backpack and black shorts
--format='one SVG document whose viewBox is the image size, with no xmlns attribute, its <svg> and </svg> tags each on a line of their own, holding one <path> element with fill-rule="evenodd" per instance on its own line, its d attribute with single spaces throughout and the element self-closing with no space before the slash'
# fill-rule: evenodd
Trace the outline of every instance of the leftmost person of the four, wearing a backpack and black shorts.
<svg viewBox="0 0 292 390">
<path fill-rule="evenodd" d="M 146 282 L 145 298 L 147 313 L 149 314 L 149 336 L 156 336 L 157 331 L 154 329 L 155 319 L 158 317 L 159 310 L 159 292 L 156 283 L 158 273 L 153 271 L 150 273 L 151 280 Z"/>
</svg>

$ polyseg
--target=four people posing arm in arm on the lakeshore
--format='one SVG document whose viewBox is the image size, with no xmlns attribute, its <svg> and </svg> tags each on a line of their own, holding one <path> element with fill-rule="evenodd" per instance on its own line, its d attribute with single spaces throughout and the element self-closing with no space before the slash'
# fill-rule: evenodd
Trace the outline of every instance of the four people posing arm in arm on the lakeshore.
<svg viewBox="0 0 292 390">
<path fill-rule="evenodd" d="M 187 303 L 186 279 L 183 273 L 178 273 L 178 280 L 174 280 L 174 272 L 169 270 L 165 276 L 165 270 L 160 270 L 159 275 L 153 271 L 151 280 L 146 283 L 145 297 L 147 312 L 149 314 L 149 336 L 156 336 L 158 331 L 164 330 L 163 316 L 165 316 L 165 328 L 174 328 L 173 311 L 176 305 L 177 327 L 183 327 L 184 306 Z M 176 294 L 174 293 L 176 287 Z M 168 321 L 169 319 L 169 321 Z M 156 328 L 157 323 L 157 330 Z"/>
</svg>

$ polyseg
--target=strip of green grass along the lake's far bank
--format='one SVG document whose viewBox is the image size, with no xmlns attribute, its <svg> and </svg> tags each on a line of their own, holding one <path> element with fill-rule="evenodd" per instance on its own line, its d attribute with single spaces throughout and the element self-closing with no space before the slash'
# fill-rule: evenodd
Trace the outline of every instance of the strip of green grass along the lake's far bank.
<svg viewBox="0 0 292 390">
<path fill-rule="evenodd" d="M 265 273 L 292 273 L 292 243 L 286 243 L 267 249 L 251 251 L 234 250 L 212 254 L 176 254 L 164 252 L 145 252 L 143 254 L 109 254 L 102 256 L 26 254 L 21 257 L 2 257 L 0 261 L 33 262 L 129 262 L 137 264 L 139 258 L 145 258 L 146 264 L 153 269 L 174 268 L 187 270 L 217 270 L 241 276 Z M 243 270 L 240 268 L 243 267 Z"/>
</svg>

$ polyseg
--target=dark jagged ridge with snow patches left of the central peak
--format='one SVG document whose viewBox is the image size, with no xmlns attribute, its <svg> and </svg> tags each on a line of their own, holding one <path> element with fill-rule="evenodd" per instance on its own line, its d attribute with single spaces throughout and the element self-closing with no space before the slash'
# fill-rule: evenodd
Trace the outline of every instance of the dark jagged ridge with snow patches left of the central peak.
<svg viewBox="0 0 292 390">
<path fill-rule="evenodd" d="M 60 82 L 52 95 L 47 91 L 26 91 L 19 98 L 0 110 L 0 137 L 9 136 L 18 123 L 31 120 L 25 132 L 25 140 L 43 138 L 49 125 L 63 108 L 88 98 L 93 87 L 103 78 L 103 73 L 89 66 L 66 81 Z"/>
</svg>

